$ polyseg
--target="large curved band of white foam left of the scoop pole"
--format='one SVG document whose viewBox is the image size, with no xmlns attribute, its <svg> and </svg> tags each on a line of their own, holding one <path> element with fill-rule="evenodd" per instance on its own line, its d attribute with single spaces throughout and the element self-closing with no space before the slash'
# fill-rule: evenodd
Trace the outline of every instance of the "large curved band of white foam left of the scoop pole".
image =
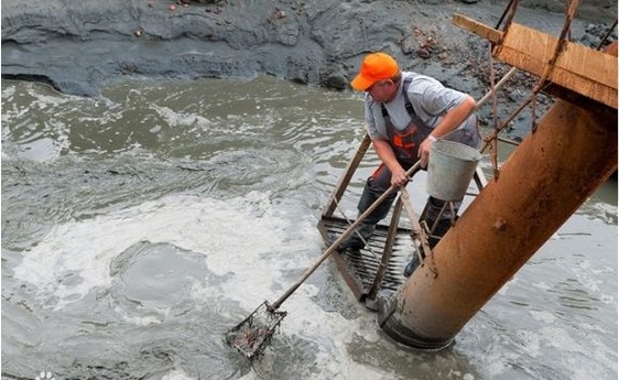
<svg viewBox="0 0 619 380">
<path fill-rule="evenodd" d="M 57 296 L 56 307 L 63 307 L 95 286 L 109 287 L 111 260 L 135 243 L 150 241 L 204 253 L 215 272 L 238 273 L 243 282 L 242 292 L 238 292 L 243 293 L 242 298 L 256 300 L 264 296 L 280 276 L 281 268 L 276 260 L 269 260 L 270 253 L 284 242 L 294 252 L 298 248 L 295 245 L 303 242 L 286 241 L 287 220 L 265 217 L 251 207 L 256 202 L 248 204 L 248 199 L 167 196 L 58 225 L 24 253 L 14 275 L 35 285 L 40 295 Z M 67 273 L 77 274 L 82 281 L 65 285 L 61 280 Z"/>
</svg>

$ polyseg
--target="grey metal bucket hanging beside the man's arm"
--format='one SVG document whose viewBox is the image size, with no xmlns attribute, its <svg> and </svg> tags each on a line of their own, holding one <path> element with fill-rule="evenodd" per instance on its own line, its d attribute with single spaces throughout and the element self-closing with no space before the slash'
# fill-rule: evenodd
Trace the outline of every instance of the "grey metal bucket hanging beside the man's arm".
<svg viewBox="0 0 619 380">
<path fill-rule="evenodd" d="M 436 140 L 430 149 L 426 191 L 441 200 L 460 200 L 466 194 L 481 153 L 468 145 Z"/>
</svg>

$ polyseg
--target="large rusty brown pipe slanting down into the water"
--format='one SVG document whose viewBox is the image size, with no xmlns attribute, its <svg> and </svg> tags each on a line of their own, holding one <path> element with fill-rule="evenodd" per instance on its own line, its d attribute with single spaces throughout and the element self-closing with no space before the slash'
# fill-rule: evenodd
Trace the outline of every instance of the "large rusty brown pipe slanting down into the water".
<svg viewBox="0 0 619 380">
<path fill-rule="evenodd" d="M 616 170 L 617 115 L 594 115 L 560 100 L 433 253 L 380 305 L 382 329 L 411 347 L 448 346 Z"/>
</svg>

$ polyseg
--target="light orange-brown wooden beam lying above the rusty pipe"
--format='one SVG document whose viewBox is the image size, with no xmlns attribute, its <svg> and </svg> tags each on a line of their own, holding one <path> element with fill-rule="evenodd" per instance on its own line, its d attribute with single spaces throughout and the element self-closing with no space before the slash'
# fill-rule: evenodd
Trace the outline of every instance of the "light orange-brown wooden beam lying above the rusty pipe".
<svg viewBox="0 0 619 380">
<path fill-rule="evenodd" d="M 552 35 L 518 23 L 512 23 L 504 33 L 459 14 L 454 15 L 454 23 L 495 43 L 495 58 L 537 77 L 544 75 L 558 43 Z M 573 101 L 576 93 L 617 110 L 617 57 L 566 42 L 547 80 L 554 85 L 554 96 L 562 97 L 565 93 L 565 100 Z"/>
</svg>

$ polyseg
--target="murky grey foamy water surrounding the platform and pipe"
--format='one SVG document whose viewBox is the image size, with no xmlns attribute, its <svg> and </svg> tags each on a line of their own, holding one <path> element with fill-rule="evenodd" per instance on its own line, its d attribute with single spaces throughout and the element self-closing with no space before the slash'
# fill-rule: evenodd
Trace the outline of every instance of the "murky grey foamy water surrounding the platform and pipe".
<svg viewBox="0 0 619 380">
<path fill-rule="evenodd" d="M 392 343 L 330 261 L 260 360 L 222 343 L 325 249 L 362 120 L 356 95 L 272 78 L 97 99 L 3 80 L 2 379 L 616 379 L 616 182 L 444 351 Z M 421 207 L 423 177 L 410 188 Z"/>
</svg>

